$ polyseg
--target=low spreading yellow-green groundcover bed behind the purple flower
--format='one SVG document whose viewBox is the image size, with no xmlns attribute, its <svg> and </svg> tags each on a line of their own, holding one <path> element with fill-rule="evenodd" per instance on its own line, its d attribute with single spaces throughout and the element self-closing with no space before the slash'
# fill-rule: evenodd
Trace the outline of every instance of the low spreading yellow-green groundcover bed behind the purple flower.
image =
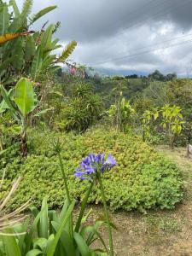
<svg viewBox="0 0 192 256">
<path fill-rule="evenodd" d="M 61 207 L 65 198 L 63 180 L 57 157 L 49 149 L 49 137 L 57 135 L 40 131 L 28 131 L 28 134 L 31 136 L 27 159 L 22 160 L 20 165 L 20 157 L 17 156 L 9 160 L 5 167 L 8 184 L 9 179 L 19 174 L 23 177 L 12 207 L 20 207 L 30 198 L 39 207 L 44 195 L 49 195 L 50 207 Z M 113 154 L 118 162 L 118 166 L 106 173 L 103 180 L 111 209 L 137 209 L 142 212 L 156 207 L 172 209 L 182 199 L 180 170 L 136 137 L 98 129 L 87 131 L 83 136 L 63 134 L 61 141 L 68 187 L 72 196 L 78 200 L 83 199 L 88 182 L 80 183 L 73 172 L 85 155 L 100 152 Z M 101 201 L 100 190 L 96 188 L 90 195 L 90 202 Z"/>
</svg>

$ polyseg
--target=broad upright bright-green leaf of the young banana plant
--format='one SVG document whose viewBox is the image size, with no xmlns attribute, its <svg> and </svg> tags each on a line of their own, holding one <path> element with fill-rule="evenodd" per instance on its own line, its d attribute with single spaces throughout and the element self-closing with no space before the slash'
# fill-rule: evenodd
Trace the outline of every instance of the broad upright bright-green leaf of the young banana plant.
<svg viewBox="0 0 192 256">
<path fill-rule="evenodd" d="M 23 117 L 35 108 L 35 97 L 32 83 L 28 79 L 20 79 L 15 86 L 15 103 Z"/>
</svg>

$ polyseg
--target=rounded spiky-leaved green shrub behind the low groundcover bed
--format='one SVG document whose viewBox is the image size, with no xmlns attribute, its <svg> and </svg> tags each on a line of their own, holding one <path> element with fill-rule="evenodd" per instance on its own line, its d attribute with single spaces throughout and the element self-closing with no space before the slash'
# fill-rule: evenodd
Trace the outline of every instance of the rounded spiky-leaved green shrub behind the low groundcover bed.
<svg viewBox="0 0 192 256">
<path fill-rule="evenodd" d="M 78 84 L 73 88 L 72 97 L 63 104 L 55 121 L 60 130 L 85 131 L 100 119 L 103 111 L 102 99 L 94 94 L 90 84 Z"/>
</svg>

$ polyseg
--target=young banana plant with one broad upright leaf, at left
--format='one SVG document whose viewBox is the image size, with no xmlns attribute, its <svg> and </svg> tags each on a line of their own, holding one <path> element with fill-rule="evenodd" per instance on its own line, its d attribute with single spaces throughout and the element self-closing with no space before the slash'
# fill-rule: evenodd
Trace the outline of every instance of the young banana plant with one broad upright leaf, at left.
<svg viewBox="0 0 192 256">
<path fill-rule="evenodd" d="M 0 104 L 0 113 L 9 110 L 13 119 L 20 125 L 21 153 L 26 156 L 26 117 L 37 107 L 32 82 L 29 79 L 22 78 L 16 84 L 15 89 L 9 90 L 9 92 L 1 85 L 1 95 L 3 96 L 3 102 Z"/>
</svg>

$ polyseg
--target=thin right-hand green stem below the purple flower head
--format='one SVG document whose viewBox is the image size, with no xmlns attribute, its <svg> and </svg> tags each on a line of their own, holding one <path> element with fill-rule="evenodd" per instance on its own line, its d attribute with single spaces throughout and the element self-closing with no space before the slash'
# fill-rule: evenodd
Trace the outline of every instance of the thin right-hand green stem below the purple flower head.
<svg viewBox="0 0 192 256">
<path fill-rule="evenodd" d="M 103 202 L 103 207 L 104 207 L 104 211 L 105 211 L 105 215 L 106 215 L 106 219 L 107 219 L 107 223 L 108 223 L 108 238 L 109 238 L 109 247 L 110 247 L 110 256 L 114 255 L 113 252 L 113 236 L 112 236 L 112 230 L 111 230 L 111 225 L 110 225 L 110 220 L 109 220 L 109 215 L 108 215 L 108 207 L 107 207 L 107 203 L 106 203 L 106 197 L 105 197 L 105 192 L 103 189 L 103 185 L 102 185 L 102 177 L 101 174 L 98 173 L 98 181 L 100 184 L 100 189 L 102 192 L 102 202 Z"/>
</svg>

